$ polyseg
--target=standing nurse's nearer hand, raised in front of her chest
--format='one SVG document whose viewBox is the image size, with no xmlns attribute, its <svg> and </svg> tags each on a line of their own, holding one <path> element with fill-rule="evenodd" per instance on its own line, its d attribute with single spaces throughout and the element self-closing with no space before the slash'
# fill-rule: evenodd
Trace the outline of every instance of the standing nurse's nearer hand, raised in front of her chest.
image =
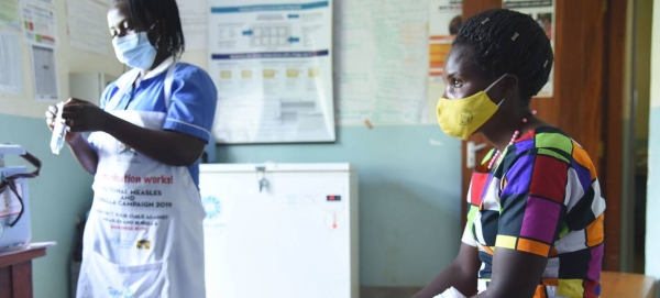
<svg viewBox="0 0 660 298">
<path fill-rule="evenodd" d="M 69 99 L 62 111 L 62 118 L 74 133 L 102 131 L 109 117 L 96 104 L 77 98 Z"/>
</svg>

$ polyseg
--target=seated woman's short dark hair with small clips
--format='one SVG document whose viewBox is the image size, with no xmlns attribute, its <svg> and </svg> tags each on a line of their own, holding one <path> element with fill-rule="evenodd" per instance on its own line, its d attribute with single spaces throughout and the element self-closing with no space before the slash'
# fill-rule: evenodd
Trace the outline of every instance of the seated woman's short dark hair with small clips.
<svg viewBox="0 0 660 298">
<path fill-rule="evenodd" d="M 554 58 L 550 40 L 537 22 L 505 9 L 468 19 L 453 44 L 471 46 L 476 65 L 492 79 L 504 74 L 518 77 L 524 106 L 548 81 Z"/>
</svg>

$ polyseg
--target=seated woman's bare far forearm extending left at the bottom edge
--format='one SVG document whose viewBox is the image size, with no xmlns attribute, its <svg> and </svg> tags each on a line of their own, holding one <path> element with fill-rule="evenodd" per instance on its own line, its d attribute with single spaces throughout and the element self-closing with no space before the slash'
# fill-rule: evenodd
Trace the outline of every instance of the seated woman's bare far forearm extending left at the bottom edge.
<svg viewBox="0 0 660 298">
<path fill-rule="evenodd" d="M 463 295 L 474 295 L 476 294 L 480 266 L 481 261 L 479 260 L 477 249 L 461 243 L 461 249 L 453 263 L 411 298 L 431 298 L 452 286 Z"/>
</svg>

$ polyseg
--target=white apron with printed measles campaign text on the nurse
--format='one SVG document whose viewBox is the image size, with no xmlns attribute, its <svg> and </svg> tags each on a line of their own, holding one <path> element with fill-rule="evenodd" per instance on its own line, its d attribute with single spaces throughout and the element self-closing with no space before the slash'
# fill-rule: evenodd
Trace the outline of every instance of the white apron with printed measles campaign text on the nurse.
<svg viewBox="0 0 660 298">
<path fill-rule="evenodd" d="M 167 106 L 174 66 L 165 79 Z M 110 104 L 127 88 L 120 89 Z M 165 121 L 161 112 L 110 113 L 152 130 Z M 205 298 L 205 211 L 188 168 L 135 153 L 107 133 L 90 137 L 99 164 L 77 297 Z"/>
</svg>

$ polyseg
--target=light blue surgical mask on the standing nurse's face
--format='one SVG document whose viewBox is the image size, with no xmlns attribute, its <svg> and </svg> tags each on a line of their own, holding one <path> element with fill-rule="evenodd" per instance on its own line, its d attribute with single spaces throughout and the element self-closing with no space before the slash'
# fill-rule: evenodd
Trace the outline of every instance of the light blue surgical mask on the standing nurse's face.
<svg viewBox="0 0 660 298">
<path fill-rule="evenodd" d="M 156 59 L 157 52 L 148 41 L 147 35 L 155 25 L 153 24 L 147 31 L 129 33 L 124 36 L 112 38 L 112 46 L 119 62 L 131 68 L 151 68 Z"/>
</svg>

